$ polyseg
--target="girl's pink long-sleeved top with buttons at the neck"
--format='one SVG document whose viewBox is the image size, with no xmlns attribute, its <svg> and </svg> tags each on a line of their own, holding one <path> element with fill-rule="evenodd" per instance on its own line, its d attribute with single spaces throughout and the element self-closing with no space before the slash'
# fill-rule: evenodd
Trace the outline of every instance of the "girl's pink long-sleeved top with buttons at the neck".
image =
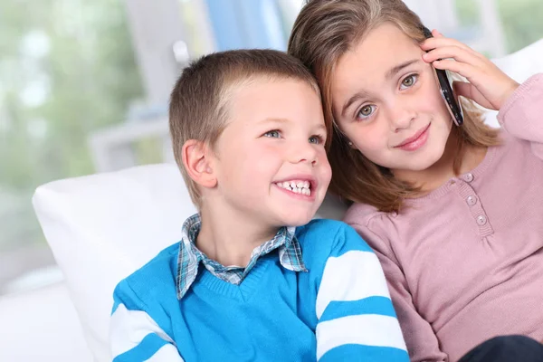
<svg viewBox="0 0 543 362">
<path fill-rule="evenodd" d="M 399 214 L 352 205 L 376 251 L 412 361 L 456 361 L 482 341 L 543 340 L 543 74 L 501 108 L 502 145 Z"/>
</svg>

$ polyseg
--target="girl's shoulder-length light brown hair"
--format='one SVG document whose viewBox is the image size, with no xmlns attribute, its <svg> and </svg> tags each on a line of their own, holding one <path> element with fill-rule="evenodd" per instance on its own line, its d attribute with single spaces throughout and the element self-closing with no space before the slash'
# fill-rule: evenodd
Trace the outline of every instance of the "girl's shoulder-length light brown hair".
<svg viewBox="0 0 543 362">
<path fill-rule="evenodd" d="M 395 179 L 388 169 L 350 148 L 332 113 L 331 79 L 339 58 L 384 23 L 395 24 L 415 43 L 425 39 L 420 18 L 401 0 L 310 0 L 296 19 L 288 52 L 304 62 L 319 81 L 324 117 L 331 132 L 330 190 L 351 202 L 397 212 L 404 199 L 415 196 L 418 189 Z M 499 144 L 498 130 L 484 125 L 481 110 L 468 100 L 462 100 L 462 109 L 464 124 L 452 128 L 458 138 L 453 164 L 456 175 L 460 173 L 466 145 Z"/>
</svg>

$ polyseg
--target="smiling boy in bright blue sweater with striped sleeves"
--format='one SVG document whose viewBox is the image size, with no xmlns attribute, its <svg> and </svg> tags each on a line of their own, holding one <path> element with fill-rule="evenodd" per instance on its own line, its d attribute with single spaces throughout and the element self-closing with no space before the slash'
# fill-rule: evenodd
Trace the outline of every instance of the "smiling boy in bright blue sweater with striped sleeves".
<svg viewBox="0 0 543 362">
<path fill-rule="evenodd" d="M 169 118 L 199 213 L 116 288 L 114 361 L 408 361 L 376 255 L 310 222 L 331 171 L 309 71 L 271 50 L 207 55 Z"/>
</svg>

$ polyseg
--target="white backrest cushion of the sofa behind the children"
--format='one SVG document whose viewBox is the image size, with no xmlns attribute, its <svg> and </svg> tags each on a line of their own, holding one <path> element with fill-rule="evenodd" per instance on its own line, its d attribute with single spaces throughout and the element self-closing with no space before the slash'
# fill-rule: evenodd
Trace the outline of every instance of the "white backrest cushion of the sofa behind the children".
<svg viewBox="0 0 543 362">
<path fill-rule="evenodd" d="M 495 62 L 515 80 L 543 71 L 543 40 Z M 493 119 L 492 119 L 493 117 Z M 489 123 L 496 122 L 495 116 Z M 175 165 L 67 179 L 40 186 L 33 205 L 62 268 L 85 338 L 98 361 L 110 361 L 108 329 L 115 285 L 167 245 L 195 213 Z M 345 211 L 327 197 L 318 216 Z"/>
</svg>

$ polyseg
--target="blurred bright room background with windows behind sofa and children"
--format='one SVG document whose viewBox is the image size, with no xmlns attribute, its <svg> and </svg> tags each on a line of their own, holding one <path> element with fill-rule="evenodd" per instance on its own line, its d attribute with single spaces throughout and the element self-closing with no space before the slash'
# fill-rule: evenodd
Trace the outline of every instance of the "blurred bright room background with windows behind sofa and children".
<svg viewBox="0 0 543 362">
<path fill-rule="evenodd" d="M 543 37 L 541 0 L 409 0 L 428 27 L 489 57 Z M 302 0 L 2 0 L 0 299 L 62 281 L 36 186 L 172 161 L 167 97 L 191 60 L 285 50 Z"/>
</svg>

